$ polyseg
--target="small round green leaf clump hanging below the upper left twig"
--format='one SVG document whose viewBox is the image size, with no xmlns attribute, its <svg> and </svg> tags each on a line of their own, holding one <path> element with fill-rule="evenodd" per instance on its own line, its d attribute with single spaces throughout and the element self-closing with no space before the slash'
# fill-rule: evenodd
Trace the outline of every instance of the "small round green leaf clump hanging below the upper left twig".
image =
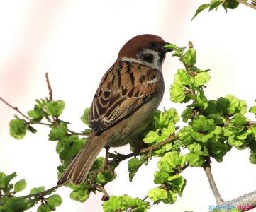
<svg viewBox="0 0 256 212">
<path fill-rule="evenodd" d="M 23 139 L 26 135 L 27 125 L 23 119 L 13 119 L 9 122 L 10 135 L 15 139 Z"/>
</svg>

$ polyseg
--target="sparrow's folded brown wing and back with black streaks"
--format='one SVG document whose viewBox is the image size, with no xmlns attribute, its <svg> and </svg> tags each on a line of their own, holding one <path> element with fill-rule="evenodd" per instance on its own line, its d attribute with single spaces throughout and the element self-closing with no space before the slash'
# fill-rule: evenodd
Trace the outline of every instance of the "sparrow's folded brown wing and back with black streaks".
<svg viewBox="0 0 256 212">
<path fill-rule="evenodd" d="M 101 79 L 89 112 L 95 134 L 113 126 L 158 90 L 160 73 L 148 66 L 117 61 Z"/>
</svg>

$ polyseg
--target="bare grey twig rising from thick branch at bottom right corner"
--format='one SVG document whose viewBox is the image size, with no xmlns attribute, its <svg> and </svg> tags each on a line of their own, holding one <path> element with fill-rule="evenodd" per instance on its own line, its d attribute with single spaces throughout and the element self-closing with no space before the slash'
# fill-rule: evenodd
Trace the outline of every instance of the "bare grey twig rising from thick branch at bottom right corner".
<svg viewBox="0 0 256 212">
<path fill-rule="evenodd" d="M 206 159 L 206 163 L 204 164 L 204 171 L 206 172 L 206 176 L 208 178 L 208 182 L 210 184 L 211 191 L 213 192 L 213 195 L 214 195 L 214 197 L 216 199 L 216 203 L 218 205 L 221 205 L 221 204 L 223 204 L 224 201 L 221 198 L 221 194 L 218 192 L 218 188 L 217 188 L 217 186 L 215 184 L 215 181 L 213 179 L 213 175 L 211 173 L 211 165 L 210 165 L 210 163 L 211 163 L 210 158 L 207 158 Z"/>
</svg>

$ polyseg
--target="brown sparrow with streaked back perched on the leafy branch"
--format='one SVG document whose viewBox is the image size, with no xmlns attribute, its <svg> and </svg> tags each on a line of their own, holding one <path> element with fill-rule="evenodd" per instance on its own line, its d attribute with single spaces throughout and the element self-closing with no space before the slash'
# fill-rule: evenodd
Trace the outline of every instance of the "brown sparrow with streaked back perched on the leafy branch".
<svg viewBox="0 0 256 212">
<path fill-rule="evenodd" d="M 121 47 L 101 78 L 89 112 L 91 134 L 57 182 L 84 182 L 103 148 L 124 146 L 143 131 L 162 101 L 162 63 L 169 42 L 152 34 L 137 35 Z"/>
</svg>

